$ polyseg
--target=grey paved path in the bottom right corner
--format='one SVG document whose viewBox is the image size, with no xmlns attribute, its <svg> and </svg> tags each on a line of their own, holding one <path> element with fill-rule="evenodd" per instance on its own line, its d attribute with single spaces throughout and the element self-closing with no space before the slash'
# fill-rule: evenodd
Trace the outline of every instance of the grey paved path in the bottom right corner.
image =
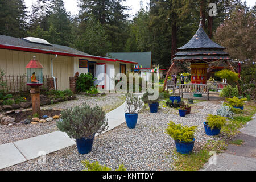
<svg viewBox="0 0 256 182">
<path fill-rule="evenodd" d="M 211 158 L 202 170 L 205 171 L 256 171 L 256 118 L 240 130 L 234 140 L 243 140 L 241 146 L 230 144 L 225 153 Z"/>
</svg>

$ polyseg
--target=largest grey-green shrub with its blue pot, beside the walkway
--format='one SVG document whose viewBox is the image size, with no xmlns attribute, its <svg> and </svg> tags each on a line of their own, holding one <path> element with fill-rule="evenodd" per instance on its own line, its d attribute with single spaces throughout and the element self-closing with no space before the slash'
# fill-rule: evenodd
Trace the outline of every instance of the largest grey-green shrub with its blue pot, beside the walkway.
<svg viewBox="0 0 256 182">
<path fill-rule="evenodd" d="M 83 104 L 61 111 L 61 119 L 57 121 L 60 131 L 76 139 L 80 154 L 92 151 L 94 136 L 108 129 L 106 114 L 102 108 L 94 108 Z"/>
</svg>

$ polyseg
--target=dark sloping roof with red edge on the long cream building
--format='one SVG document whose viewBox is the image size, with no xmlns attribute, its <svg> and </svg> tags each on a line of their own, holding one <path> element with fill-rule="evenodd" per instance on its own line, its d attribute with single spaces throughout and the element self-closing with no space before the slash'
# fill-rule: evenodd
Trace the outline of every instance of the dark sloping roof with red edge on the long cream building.
<svg viewBox="0 0 256 182">
<path fill-rule="evenodd" d="M 72 57 L 86 57 L 104 61 L 121 62 L 121 63 L 131 63 L 137 64 L 134 61 L 126 61 L 119 59 L 110 59 L 108 57 L 93 56 L 88 53 L 84 53 L 67 46 L 61 46 L 57 44 L 51 44 L 51 46 L 39 43 L 28 42 L 22 38 L 14 38 L 11 36 L 0 35 L 0 48 L 11 49 L 16 51 L 26 51 L 26 52 L 36 52 L 36 53 L 47 53 L 53 55 L 63 55 Z"/>
</svg>

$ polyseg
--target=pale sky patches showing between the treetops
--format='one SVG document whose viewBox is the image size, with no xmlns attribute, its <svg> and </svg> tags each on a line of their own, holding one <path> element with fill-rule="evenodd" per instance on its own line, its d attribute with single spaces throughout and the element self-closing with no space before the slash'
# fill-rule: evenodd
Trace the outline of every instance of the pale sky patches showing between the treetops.
<svg viewBox="0 0 256 182">
<path fill-rule="evenodd" d="M 26 6 L 28 7 L 28 11 L 30 10 L 30 7 L 32 5 L 32 2 L 36 2 L 36 0 L 24 0 Z M 79 8 L 77 7 L 77 0 L 63 0 L 65 8 L 68 12 L 71 13 L 71 15 L 76 15 L 79 11 Z M 143 7 L 146 8 L 147 3 L 150 2 L 150 0 L 142 0 L 143 1 Z M 242 0 L 242 2 L 246 1 L 247 5 L 250 7 L 253 7 L 255 5 L 256 0 Z M 140 1 L 139 0 L 127 0 L 126 2 L 123 2 L 123 5 L 130 7 L 131 10 L 129 10 L 127 13 L 131 15 L 130 19 L 133 18 L 133 16 L 139 11 L 140 9 Z"/>
</svg>

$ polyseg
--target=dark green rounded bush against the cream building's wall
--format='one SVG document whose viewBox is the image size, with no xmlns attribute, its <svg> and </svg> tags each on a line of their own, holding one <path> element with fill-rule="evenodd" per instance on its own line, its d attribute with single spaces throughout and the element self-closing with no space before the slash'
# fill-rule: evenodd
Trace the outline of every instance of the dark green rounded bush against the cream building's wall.
<svg viewBox="0 0 256 182">
<path fill-rule="evenodd" d="M 94 81 L 96 78 L 93 78 L 91 73 L 81 73 L 76 82 L 76 89 L 78 92 L 86 92 L 92 86 L 94 86 Z"/>
</svg>

